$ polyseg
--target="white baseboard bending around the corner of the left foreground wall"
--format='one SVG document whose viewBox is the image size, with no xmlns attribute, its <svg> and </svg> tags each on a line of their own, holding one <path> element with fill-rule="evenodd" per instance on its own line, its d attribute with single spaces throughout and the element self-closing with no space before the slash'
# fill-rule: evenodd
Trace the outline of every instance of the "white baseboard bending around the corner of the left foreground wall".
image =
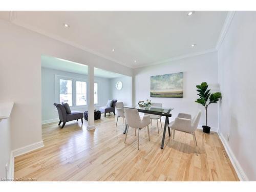
<svg viewBox="0 0 256 192">
<path fill-rule="evenodd" d="M 44 142 L 41 140 L 39 142 L 17 148 L 16 150 L 11 151 L 10 153 L 10 162 L 8 170 L 8 179 L 10 181 L 14 180 L 14 157 L 29 153 L 31 151 L 37 150 L 38 148 L 44 147 Z"/>
</svg>

